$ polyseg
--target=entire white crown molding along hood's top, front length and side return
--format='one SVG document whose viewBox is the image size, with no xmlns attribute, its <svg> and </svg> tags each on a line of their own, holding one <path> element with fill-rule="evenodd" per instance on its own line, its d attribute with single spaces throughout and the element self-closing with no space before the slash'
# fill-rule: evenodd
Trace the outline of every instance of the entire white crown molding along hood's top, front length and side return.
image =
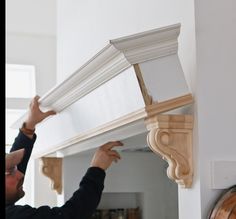
<svg viewBox="0 0 236 219">
<path fill-rule="evenodd" d="M 179 32 L 180 24 L 174 24 L 111 40 L 76 72 L 42 96 L 40 107 L 60 112 L 132 64 L 177 53 Z M 19 128 L 26 115 L 12 128 Z"/>
</svg>

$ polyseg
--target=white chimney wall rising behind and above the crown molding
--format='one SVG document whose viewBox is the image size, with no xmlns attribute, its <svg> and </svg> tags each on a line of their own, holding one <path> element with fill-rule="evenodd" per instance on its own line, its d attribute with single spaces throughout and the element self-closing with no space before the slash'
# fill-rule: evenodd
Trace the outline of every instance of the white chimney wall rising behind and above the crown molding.
<svg viewBox="0 0 236 219">
<path fill-rule="evenodd" d="M 180 56 L 187 56 L 184 72 L 192 73 L 193 10 L 193 1 L 189 0 L 58 1 L 58 81 L 72 74 L 111 39 L 179 22 Z"/>
</svg>

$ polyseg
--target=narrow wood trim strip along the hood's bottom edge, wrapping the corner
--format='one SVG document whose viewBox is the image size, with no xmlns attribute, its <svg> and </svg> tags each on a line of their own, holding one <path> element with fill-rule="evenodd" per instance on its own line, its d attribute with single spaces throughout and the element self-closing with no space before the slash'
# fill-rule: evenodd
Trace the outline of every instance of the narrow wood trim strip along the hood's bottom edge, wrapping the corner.
<svg viewBox="0 0 236 219">
<path fill-rule="evenodd" d="M 113 133 L 117 135 L 117 133 L 122 133 L 123 130 L 126 129 L 126 126 L 131 126 L 134 130 L 133 132 L 140 132 L 140 121 L 144 121 L 145 118 L 150 118 L 153 115 L 157 115 L 163 112 L 167 112 L 169 110 L 185 106 L 187 104 L 191 104 L 193 102 L 192 95 L 185 95 L 182 97 L 174 98 L 168 101 L 164 101 L 161 103 L 154 103 L 152 105 L 146 106 L 143 109 L 137 110 L 135 112 L 129 113 L 123 117 L 120 117 L 116 120 L 113 120 L 109 123 L 104 125 L 98 126 L 94 129 L 88 130 L 86 132 L 80 133 L 73 138 L 67 139 L 66 141 L 61 142 L 60 144 L 51 146 L 50 149 L 46 149 L 45 151 L 40 151 L 39 153 L 34 153 L 32 157 L 39 158 L 42 156 L 51 156 L 52 154 L 56 153 L 57 151 L 65 150 L 71 146 L 76 144 L 80 144 L 82 142 L 90 141 L 91 138 L 100 137 L 104 138 L 105 135 L 109 133 Z M 161 117 L 159 117 L 159 120 Z M 144 122 L 143 122 L 144 123 Z M 162 121 L 162 125 L 163 125 Z M 172 122 L 173 124 L 173 122 Z M 144 125 L 145 126 L 145 125 Z M 136 131 L 139 130 L 139 131 Z M 146 130 L 143 129 L 143 132 Z M 124 136 L 123 136 L 124 137 Z M 88 150 L 88 148 L 80 148 L 76 149 L 77 151 Z M 54 155 L 53 155 L 54 156 Z"/>
</svg>

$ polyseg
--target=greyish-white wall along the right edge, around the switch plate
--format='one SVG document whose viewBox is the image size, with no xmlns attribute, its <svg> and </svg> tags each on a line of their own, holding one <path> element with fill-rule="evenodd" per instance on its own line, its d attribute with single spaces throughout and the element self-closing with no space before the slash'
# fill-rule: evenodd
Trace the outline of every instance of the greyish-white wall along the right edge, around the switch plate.
<svg viewBox="0 0 236 219">
<path fill-rule="evenodd" d="M 236 2 L 198 0 L 195 6 L 201 218 L 206 218 L 221 192 L 211 189 L 211 162 L 236 160 Z"/>
</svg>

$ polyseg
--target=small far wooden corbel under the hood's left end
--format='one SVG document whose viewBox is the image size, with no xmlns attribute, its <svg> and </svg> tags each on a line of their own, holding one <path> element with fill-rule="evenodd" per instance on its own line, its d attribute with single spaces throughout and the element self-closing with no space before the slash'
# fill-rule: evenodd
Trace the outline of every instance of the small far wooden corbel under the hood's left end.
<svg viewBox="0 0 236 219">
<path fill-rule="evenodd" d="M 42 173 L 52 181 L 52 189 L 62 192 L 62 158 L 41 157 Z"/>
</svg>

